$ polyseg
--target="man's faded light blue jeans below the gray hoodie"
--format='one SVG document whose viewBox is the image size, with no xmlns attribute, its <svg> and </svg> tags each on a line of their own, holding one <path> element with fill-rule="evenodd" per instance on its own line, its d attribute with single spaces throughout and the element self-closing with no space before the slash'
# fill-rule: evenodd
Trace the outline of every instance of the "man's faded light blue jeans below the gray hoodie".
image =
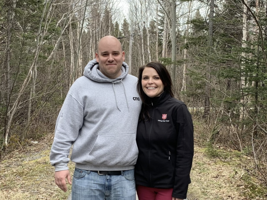
<svg viewBox="0 0 267 200">
<path fill-rule="evenodd" d="M 134 169 L 121 175 L 99 175 L 75 168 L 71 200 L 136 200 Z"/>
</svg>

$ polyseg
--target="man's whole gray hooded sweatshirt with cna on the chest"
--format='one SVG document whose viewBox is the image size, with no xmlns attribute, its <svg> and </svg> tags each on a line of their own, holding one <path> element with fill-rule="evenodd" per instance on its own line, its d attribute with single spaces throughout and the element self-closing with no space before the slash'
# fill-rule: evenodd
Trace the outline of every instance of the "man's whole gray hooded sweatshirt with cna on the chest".
<svg viewBox="0 0 267 200">
<path fill-rule="evenodd" d="M 79 169 L 134 169 L 142 101 L 136 91 L 137 78 L 128 74 L 124 62 L 121 70 L 118 78 L 107 78 L 94 59 L 71 86 L 55 126 L 50 153 L 55 171 L 68 169 L 71 145 L 71 161 Z"/>
</svg>

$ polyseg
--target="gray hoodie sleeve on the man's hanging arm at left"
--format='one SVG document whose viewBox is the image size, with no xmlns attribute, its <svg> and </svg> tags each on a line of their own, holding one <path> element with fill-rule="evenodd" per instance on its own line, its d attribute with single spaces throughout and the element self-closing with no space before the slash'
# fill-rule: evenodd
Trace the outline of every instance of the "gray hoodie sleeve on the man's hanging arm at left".
<svg viewBox="0 0 267 200">
<path fill-rule="evenodd" d="M 82 127 L 83 115 L 82 104 L 68 93 L 56 121 L 55 137 L 50 152 L 50 163 L 55 166 L 55 171 L 69 169 L 67 164 L 70 160 L 70 147 Z"/>
</svg>

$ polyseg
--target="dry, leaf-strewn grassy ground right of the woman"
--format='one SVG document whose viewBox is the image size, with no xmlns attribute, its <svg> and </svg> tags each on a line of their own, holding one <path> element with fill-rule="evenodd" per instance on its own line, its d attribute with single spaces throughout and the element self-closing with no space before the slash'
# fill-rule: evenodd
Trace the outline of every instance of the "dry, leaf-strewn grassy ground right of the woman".
<svg viewBox="0 0 267 200">
<path fill-rule="evenodd" d="M 250 166 L 250 159 L 238 151 L 196 147 L 189 192 L 199 200 L 266 200 L 267 187 L 244 166 Z"/>
</svg>

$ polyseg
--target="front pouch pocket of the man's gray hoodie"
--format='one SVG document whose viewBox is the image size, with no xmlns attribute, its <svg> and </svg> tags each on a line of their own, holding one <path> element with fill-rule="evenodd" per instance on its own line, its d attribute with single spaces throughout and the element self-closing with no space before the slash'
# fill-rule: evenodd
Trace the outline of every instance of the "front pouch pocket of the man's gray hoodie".
<svg viewBox="0 0 267 200">
<path fill-rule="evenodd" d="M 137 156 L 134 132 L 98 134 L 88 162 L 102 166 L 129 166 L 136 163 Z"/>
</svg>

